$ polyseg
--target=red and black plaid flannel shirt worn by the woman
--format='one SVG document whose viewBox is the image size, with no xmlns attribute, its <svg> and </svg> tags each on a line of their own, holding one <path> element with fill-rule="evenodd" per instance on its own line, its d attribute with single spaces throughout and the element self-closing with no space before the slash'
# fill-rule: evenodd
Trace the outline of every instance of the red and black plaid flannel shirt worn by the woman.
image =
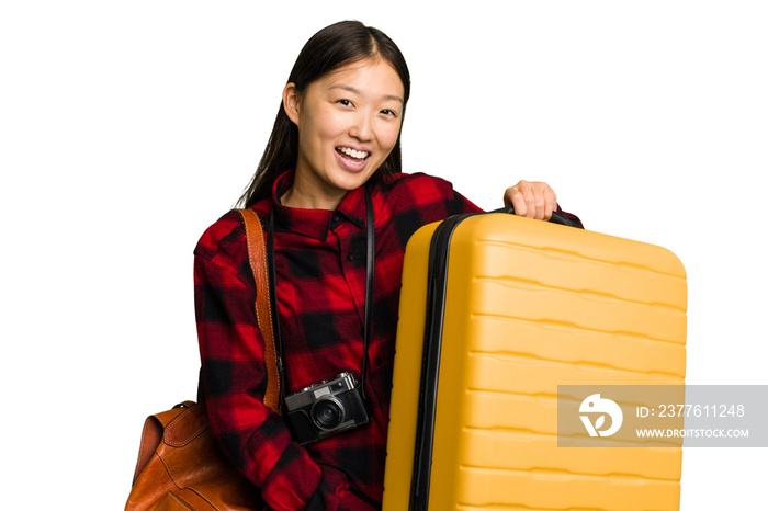
<svg viewBox="0 0 768 511">
<path fill-rule="evenodd" d="M 360 374 L 365 304 L 365 200 L 347 193 L 335 212 L 280 205 L 286 172 L 270 200 L 275 208 L 275 268 L 286 391 L 343 371 Z M 195 249 L 195 309 L 202 388 L 213 434 L 275 510 L 364 510 L 381 507 L 389 393 L 405 246 L 421 226 L 479 212 L 451 184 L 398 174 L 372 188 L 375 217 L 373 334 L 366 395 L 370 424 L 307 447 L 263 402 L 264 340 L 253 311 L 256 286 L 240 215 L 229 212 Z M 283 407 L 284 408 L 284 407 Z"/>
</svg>

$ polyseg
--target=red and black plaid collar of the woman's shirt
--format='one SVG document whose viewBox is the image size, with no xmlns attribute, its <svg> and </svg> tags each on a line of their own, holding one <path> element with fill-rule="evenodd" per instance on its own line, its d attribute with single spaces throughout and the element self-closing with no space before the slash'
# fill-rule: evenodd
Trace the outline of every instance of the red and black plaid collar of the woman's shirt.
<svg viewBox="0 0 768 511">
<path fill-rule="evenodd" d="M 362 186 L 347 192 L 336 211 L 298 209 L 280 203 L 280 197 L 293 184 L 293 170 L 286 171 L 272 186 L 272 207 L 278 224 L 282 227 L 280 230 L 325 241 L 328 231 L 336 229 L 345 220 L 351 222 L 360 229 L 365 228 L 365 194 Z"/>
</svg>

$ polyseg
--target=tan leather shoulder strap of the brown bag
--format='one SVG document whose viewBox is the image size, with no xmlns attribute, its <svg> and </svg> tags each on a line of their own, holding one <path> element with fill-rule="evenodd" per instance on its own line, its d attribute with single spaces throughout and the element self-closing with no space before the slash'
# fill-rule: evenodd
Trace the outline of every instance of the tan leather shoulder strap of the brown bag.
<svg viewBox="0 0 768 511">
<path fill-rule="evenodd" d="M 267 344 L 264 362 L 267 363 L 267 394 L 264 405 L 280 413 L 280 373 L 278 372 L 278 354 L 274 347 L 274 329 L 272 328 L 272 310 L 269 297 L 269 272 L 267 268 L 267 247 L 261 220 L 253 209 L 238 209 L 246 226 L 246 242 L 248 259 L 256 281 L 256 319 Z"/>
</svg>

